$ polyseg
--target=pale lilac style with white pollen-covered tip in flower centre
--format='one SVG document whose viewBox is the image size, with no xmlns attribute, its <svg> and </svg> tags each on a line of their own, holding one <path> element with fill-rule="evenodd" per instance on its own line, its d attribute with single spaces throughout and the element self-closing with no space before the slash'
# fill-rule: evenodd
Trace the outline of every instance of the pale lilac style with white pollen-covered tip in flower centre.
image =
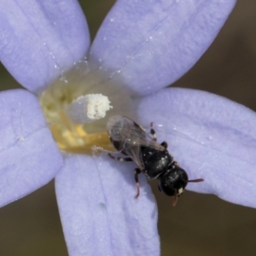
<svg viewBox="0 0 256 256">
<path fill-rule="evenodd" d="M 79 96 L 67 106 L 67 117 L 76 124 L 88 124 L 106 116 L 110 106 L 108 96 L 88 94 Z"/>
</svg>

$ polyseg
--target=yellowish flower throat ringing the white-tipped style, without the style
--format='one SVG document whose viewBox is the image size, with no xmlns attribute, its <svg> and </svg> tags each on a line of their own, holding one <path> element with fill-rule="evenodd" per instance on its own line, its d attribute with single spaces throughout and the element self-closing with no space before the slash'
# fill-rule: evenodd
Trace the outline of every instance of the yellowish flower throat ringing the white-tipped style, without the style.
<svg viewBox="0 0 256 256">
<path fill-rule="evenodd" d="M 85 66 L 85 62 L 77 64 L 65 74 L 65 77 L 62 76 L 49 85 L 39 97 L 41 107 L 55 142 L 61 150 L 74 154 L 90 154 L 91 148 L 98 146 L 114 151 L 109 141 L 106 123 L 110 115 L 120 113 L 122 108 L 118 107 L 116 112 L 113 106 L 105 118 L 85 124 L 75 123 L 67 113 L 67 108 L 74 101 L 91 93 L 108 96 L 112 105 L 119 102 L 120 88 L 107 83 L 99 72 L 89 72 Z M 122 101 L 122 106 L 127 104 Z"/>
</svg>

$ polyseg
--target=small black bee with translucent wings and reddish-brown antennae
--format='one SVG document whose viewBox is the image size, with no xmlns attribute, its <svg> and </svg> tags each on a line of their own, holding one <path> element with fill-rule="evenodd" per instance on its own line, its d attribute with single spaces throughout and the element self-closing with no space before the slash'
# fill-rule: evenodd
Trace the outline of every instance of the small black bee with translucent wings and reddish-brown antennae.
<svg viewBox="0 0 256 256">
<path fill-rule="evenodd" d="M 167 150 L 166 141 L 157 143 L 157 136 L 150 125 L 150 134 L 133 120 L 114 115 L 108 119 L 108 135 L 113 147 L 123 157 L 115 157 L 108 154 L 111 158 L 119 161 L 134 161 L 137 168 L 134 170 L 135 182 L 137 185 L 137 195 L 140 195 L 138 174 L 143 172 L 149 180 L 158 179 L 158 188 L 166 195 L 173 196 L 172 206 L 177 204 L 177 197 L 183 194 L 187 184 L 204 181 L 202 178 L 189 180 L 187 172 L 178 166 L 172 155 Z"/>
</svg>

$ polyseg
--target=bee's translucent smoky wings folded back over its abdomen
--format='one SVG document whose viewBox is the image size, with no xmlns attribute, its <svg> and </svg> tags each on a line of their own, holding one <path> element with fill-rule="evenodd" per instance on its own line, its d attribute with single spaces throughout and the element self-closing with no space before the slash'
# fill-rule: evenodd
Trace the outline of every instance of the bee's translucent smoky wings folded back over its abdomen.
<svg viewBox="0 0 256 256">
<path fill-rule="evenodd" d="M 140 125 L 125 116 L 112 116 L 108 119 L 107 129 L 109 137 L 113 141 L 119 142 L 119 150 L 129 155 L 137 163 L 137 166 L 142 169 L 143 163 L 140 159 L 142 146 L 160 151 L 166 149 L 148 136 Z"/>
</svg>

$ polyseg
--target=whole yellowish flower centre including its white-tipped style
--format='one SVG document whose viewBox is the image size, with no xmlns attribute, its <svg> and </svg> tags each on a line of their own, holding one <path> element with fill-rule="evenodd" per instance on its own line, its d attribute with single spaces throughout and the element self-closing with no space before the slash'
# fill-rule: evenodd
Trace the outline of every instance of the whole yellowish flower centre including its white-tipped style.
<svg viewBox="0 0 256 256">
<path fill-rule="evenodd" d="M 129 108 L 131 100 L 124 90 L 81 61 L 50 84 L 39 101 L 58 147 L 90 154 L 93 146 L 113 151 L 106 130 L 108 117 Z"/>
</svg>

